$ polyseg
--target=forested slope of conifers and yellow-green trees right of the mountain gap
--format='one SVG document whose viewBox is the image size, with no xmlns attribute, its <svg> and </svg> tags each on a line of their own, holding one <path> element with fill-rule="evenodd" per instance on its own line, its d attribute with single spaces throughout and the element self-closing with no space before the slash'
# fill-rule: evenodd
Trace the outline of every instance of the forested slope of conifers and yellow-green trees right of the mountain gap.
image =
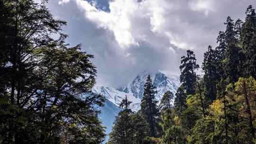
<svg viewBox="0 0 256 144">
<path fill-rule="evenodd" d="M 158 105 L 148 76 L 141 109 L 122 101 L 108 144 L 256 144 L 255 9 L 245 14 L 244 21 L 227 18 L 219 45 L 203 55 L 203 75 L 193 51 L 181 57 L 175 96 L 167 91 Z"/>
</svg>

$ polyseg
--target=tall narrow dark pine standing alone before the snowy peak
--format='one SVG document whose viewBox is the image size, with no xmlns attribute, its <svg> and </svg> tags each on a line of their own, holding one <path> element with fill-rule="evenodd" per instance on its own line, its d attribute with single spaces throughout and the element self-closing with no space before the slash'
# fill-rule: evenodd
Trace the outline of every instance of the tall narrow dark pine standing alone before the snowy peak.
<svg viewBox="0 0 256 144">
<path fill-rule="evenodd" d="M 146 119 L 149 125 L 150 136 L 157 136 L 159 109 L 157 107 L 157 100 L 155 99 L 154 86 L 150 75 L 148 75 L 146 83 L 144 85 L 143 98 L 141 99 L 141 114 Z"/>
</svg>

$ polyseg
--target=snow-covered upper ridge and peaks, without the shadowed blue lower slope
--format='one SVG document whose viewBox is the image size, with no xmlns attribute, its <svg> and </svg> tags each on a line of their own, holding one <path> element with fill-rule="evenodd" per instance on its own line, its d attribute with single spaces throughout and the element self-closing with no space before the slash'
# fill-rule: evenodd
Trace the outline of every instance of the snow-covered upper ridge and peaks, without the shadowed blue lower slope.
<svg viewBox="0 0 256 144">
<path fill-rule="evenodd" d="M 144 84 L 148 75 L 151 75 L 153 85 L 157 90 L 155 98 L 160 101 L 166 91 L 176 93 L 180 85 L 179 77 L 173 75 L 170 72 L 157 71 L 155 74 L 143 72 L 128 84 L 127 87 L 114 89 L 110 87 L 94 87 L 92 92 L 103 95 L 110 102 L 119 106 L 122 99 L 125 96 L 128 97 L 129 101 L 132 101 L 131 108 L 134 111 L 140 109 L 141 99 L 144 92 Z"/>
</svg>

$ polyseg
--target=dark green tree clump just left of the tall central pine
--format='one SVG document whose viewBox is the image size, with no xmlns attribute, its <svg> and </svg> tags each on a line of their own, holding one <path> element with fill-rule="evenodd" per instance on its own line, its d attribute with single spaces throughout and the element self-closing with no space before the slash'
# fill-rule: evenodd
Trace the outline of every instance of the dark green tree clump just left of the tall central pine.
<svg viewBox="0 0 256 144">
<path fill-rule="evenodd" d="M 116 117 L 108 144 L 146 144 L 148 125 L 140 113 L 131 111 L 130 104 L 127 97 L 120 103 L 124 110 Z"/>
</svg>

